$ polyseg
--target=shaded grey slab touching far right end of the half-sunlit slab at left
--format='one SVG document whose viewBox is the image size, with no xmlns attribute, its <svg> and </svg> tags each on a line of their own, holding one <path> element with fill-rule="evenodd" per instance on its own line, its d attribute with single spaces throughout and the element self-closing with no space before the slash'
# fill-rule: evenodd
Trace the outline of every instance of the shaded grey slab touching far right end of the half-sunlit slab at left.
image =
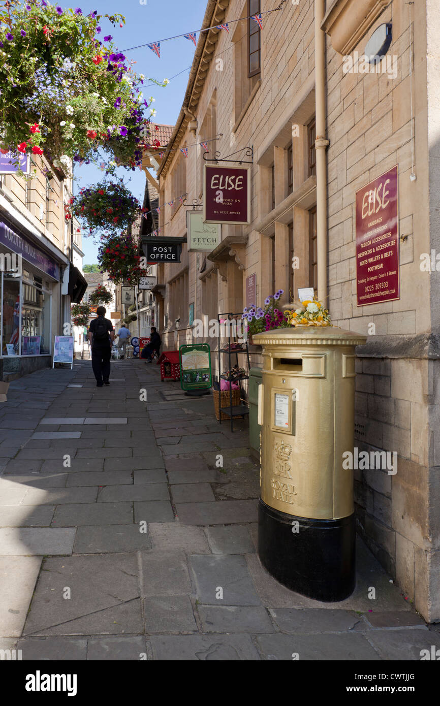
<svg viewBox="0 0 440 706">
<path fill-rule="evenodd" d="M 52 526 L 130 525 L 131 522 L 133 522 L 132 503 L 88 503 L 59 505 L 55 510 Z"/>
</svg>

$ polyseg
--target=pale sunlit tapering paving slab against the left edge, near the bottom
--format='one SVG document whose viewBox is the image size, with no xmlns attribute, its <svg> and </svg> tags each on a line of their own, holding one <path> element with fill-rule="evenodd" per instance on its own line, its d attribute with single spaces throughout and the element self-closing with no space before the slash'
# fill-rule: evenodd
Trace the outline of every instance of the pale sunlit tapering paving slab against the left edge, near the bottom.
<svg viewBox="0 0 440 706">
<path fill-rule="evenodd" d="M 0 556 L 0 635 L 20 637 L 40 566 L 39 556 Z"/>
</svg>

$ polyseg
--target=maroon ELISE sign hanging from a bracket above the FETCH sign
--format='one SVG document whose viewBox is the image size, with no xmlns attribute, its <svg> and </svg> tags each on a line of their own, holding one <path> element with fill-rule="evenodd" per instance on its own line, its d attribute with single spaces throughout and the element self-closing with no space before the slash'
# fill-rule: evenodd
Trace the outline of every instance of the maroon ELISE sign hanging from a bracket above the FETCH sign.
<svg viewBox="0 0 440 706">
<path fill-rule="evenodd" d="M 205 164 L 203 222 L 246 225 L 251 222 L 249 167 Z"/>
</svg>

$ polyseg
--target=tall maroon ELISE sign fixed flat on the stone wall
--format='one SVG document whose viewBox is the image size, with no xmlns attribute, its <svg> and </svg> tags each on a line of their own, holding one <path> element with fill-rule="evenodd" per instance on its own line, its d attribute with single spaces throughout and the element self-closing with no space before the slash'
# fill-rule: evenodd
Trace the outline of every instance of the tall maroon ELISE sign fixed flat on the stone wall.
<svg viewBox="0 0 440 706">
<path fill-rule="evenodd" d="M 357 306 L 400 299 L 398 167 L 356 192 Z"/>
</svg>

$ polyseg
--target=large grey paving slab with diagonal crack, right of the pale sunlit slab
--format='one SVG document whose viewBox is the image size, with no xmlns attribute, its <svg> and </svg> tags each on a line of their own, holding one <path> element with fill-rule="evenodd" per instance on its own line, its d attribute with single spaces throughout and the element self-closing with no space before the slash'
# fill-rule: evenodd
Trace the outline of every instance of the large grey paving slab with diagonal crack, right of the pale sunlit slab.
<svg viewBox="0 0 440 706">
<path fill-rule="evenodd" d="M 139 596 L 136 554 L 47 558 L 42 568 L 23 635 L 49 634 L 47 630 L 52 635 L 69 635 L 73 626 L 66 623 L 77 620 L 84 621 L 84 627 L 90 620 L 83 634 L 94 634 L 93 621 L 95 628 L 108 621 L 108 616 L 102 621 L 97 614 Z M 70 599 L 64 598 L 66 587 Z M 121 629 L 119 625 L 116 631 Z"/>
</svg>

